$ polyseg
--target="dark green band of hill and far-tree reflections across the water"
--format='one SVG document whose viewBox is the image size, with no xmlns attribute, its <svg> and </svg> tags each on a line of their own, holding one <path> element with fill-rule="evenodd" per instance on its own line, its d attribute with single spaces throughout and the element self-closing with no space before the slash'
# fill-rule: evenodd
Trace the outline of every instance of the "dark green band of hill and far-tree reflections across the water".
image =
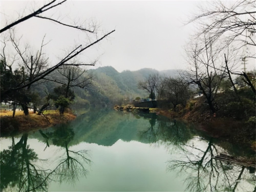
<svg viewBox="0 0 256 192">
<path fill-rule="evenodd" d="M 80 142 L 111 146 L 119 139 L 152 143 L 157 140 L 187 141 L 192 136 L 184 122 L 173 122 L 156 114 L 132 114 L 117 111 L 89 112 L 70 122 L 74 139 L 70 145 Z M 44 132 L 53 131 L 54 128 Z M 38 134 L 38 133 L 37 133 Z M 37 137 L 36 134 L 34 137 Z"/>
</svg>

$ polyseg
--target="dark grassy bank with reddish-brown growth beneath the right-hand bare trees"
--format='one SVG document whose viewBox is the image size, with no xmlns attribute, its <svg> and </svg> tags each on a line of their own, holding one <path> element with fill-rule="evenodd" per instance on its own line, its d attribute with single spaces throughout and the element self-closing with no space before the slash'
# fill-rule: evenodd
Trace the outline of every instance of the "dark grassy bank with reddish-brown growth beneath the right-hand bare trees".
<svg viewBox="0 0 256 192">
<path fill-rule="evenodd" d="M 177 105 L 175 109 L 149 108 L 149 112 L 178 118 L 195 123 L 195 128 L 204 131 L 209 137 L 250 146 L 256 150 L 255 108 L 253 104 L 225 101 L 227 96 L 219 94 L 216 99 L 219 105 L 212 113 L 204 97 L 188 100 L 185 107 Z M 228 103 L 228 104 L 227 104 Z M 166 104 L 168 106 L 168 103 Z M 127 106 L 123 107 L 126 110 Z M 128 106 L 129 108 L 129 106 Z M 135 108 L 135 107 L 132 107 Z M 135 111 L 136 110 L 130 110 Z"/>
</svg>

